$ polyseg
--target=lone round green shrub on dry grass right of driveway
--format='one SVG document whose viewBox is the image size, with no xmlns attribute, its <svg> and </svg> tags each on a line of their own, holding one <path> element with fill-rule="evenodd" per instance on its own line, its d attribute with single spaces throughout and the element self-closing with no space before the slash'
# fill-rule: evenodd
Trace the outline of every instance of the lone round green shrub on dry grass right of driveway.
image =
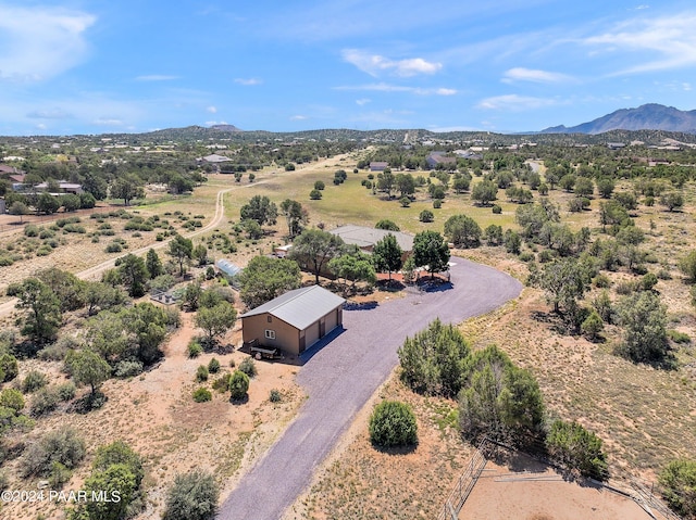
<svg viewBox="0 0 696 520">
<path fill-rule="evenodd" d="M 384 401 L 375 406 L 370 417 L 370 441 L 382 447 L 415 444 L 418 424 L 411 407 L 396 401 Z"/>
</svg>

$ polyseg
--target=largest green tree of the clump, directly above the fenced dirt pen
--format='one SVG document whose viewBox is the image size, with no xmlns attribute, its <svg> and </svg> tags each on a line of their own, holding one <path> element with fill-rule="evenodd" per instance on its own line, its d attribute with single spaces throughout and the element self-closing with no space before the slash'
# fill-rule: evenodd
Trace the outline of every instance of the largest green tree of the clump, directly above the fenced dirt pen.
<svg viewBox="0 0 696 520">
<path fill-rule="evenodd" d="M 512 441 L 538 434 L 544 418 L 534 377 L 492 345 L 467 358 L 459 392 L 459 421 L 468 439 L 487 435 Z"/>
</svg>

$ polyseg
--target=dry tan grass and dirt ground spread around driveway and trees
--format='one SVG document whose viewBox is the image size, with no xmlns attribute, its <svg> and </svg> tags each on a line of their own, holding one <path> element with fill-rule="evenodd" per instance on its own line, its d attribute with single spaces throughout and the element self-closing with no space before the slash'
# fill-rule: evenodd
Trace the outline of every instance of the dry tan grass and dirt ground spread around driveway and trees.
<svg viewBox="0 0 696 520">
<path fill-rule="evenodd" d="M 257 174 L 253 183 L 249 183 L 246 176 L 241 183 L 236 185 L 232 176 L 212 175 L 209 182 L 189 198 L 162 201 L 151 198 L 146 205 L 130 211 L 137 211 L 144 217 L 158 215 L 171 219 L 173 217 L 165 214 L 203 215 L 204 224 L 212 217 L 216 192 L 233 188 L 225 195 L 226 221 L 211 233 L 231 233 L 231 223 L 238 221 L 239 208 L 254 194 L 268 195 L 276 203 L 295 199 L 308 208 L 310 226 L 323 223 L 327 229 L 348 223 L 373 226 L 382 218 L 389 218 L 409 232 L 423 229 L 442 231 L 445 220 L 459 213 L 472 216 L 482 228 L 490 224 L 500 225 L 504 229 L 515 227 L 517 204 L 500 200 L 502 214 L 494 215 L 489 207 L 474 206 L 468 193 L 448 194 L 439 210 L 433 210 L 432 201 L 420 193 L 410 207 L 403 208 L 396 200 L 383 200 L 361 186 L 368 173 L 352 174 L 356 161 L 355 155 L 343 157 L 343 161 L 334 157 L 301 165 L 296 172 L 266 168 Z M 334 186 L 333 175 L 339 168 L 348 172 L 348 179 L 340 186 Z M 426 173 L 415 175 L 421 174 L 427 176 Z M 323 180 L 326 188 L 322 200 L 310 201 L 309 192 L 315 180 Z M 676 269 L 676 261 L 694 248 L 693 237 L 696 236 L 693 185 L 687 185 L 686 193 L 686 205 L 682 212 L 668 213 L 659 206 L 641 205 L 635 220 L 646 231 L 648 240 L 644 248 L 657 261 L 648 264 L 649 270 L 664 269 L 671 275 L 671 279 L 660 279 L 656 287 L 668 305 L 669 327 L 696 340 L 696 319 L 688 303 L 688 287 L 682 282 Z M 502 192 L 499 194 L 505 198 Z M 598 199 L 593 200 L 591 211 L 570 214 L 566 211 L 570 196 L 560 190 L 550 192 L 551 200 L 561 206 L 562 221 L 570 223 L 575 229 L 582 226 L 598 228 Z M 425 208 L 435 214 L 434 223 L 419 221 L 418 215 Z M 104 253 L 111 237 L 102 237 L 99 243 L 92 243 L 87 234 L 97 228 L 97 223 L 85 217 L 82 224 L 87 233 L 75 237 L 73 233 L 57 233 L 65 243 L 48 256 L 29 254 L 12 266 L 0 267 L 0 288 L 45 267 L 78 271 L 127 252 Z M 128 249 L 154 243 L 157 230 L 133 237 L 132 231 L 122 230 L 124 224 L 113 228 L 116 236 L 125 238 Z M 176 229 L 181 229 L 178 224 Z M 237 252 L 224 256 L 245 265 L 251 256 L 270 252 L 273 243 L 284 241 L 283 217 L 270 231 L 258 241 L 240 240 L 236 243 Z M 593 238 L 597 233 L 593 229 Z M 18 231 L 1 234 L 0 249 L 18 243 L 21 238 Z M 204 239 L 206 236 L 201 236 L 195 243 Z M 527 276 L 526 264 L 508 255 L 501 248 L 483 246 L 458 254 L 496 266 L 521 280 Z M 215 255 L 222 256 L 220 253 Z M 609 277 L 613 282 L 611 296 L 616 300 L 617 282 L 633 275 L 618 271 Z M 589 294 L 586 301 L 589 302 L 593 295 Z M 631 364 L 612 354 L 612 347 L 620 338 L 618 328 L 609 327 L 605 332 L 606 341 L 592 343 L 584 338 L 558 332 L 548 312 L 543 293 L 527 288 L 518 301 L 490 315 L 461 324 L 460 329 L 474 347 L 495 343 L 517 364 L 532 370 L 539 381 L 551 417 L 577 420 L 600 435 L 609 456 L 612 478 L 617 481 L 627 475 L 654 481 L 656 471 L 667 461 L 679 456 L 693 456 L 693 446 L 696 446 L 696 356 L 693 344 L 680 347 L 678 370 L 658 370 Z M 12 321 L 8 319 L 2 326 L 11 327 Z M 186 343 L 194 332 L 190 317 L 185 316 L 184 327 L 170 339 L 165 359 L 160 366 L 130 380 L 109 381 L 104 385 L 109 401 L 102 409 L 88 416 L 55 413 L 40 419 L 32 434 L 74 424 L 88 441 L 89 456 L 96 446 L 114 439 L 133 443 L 145 457 L 147 470 L 148 509 L 139 518 L 158 518 L 163 490 L 176 472 L 191 467 L 211 469 L 219 482 L 229 490 L 245 468 L 291 420 L 302 401 L 301 391 L 294 384 L 296 367 L 260 363 L 260 373 L 251 382 L 247 404 L 234 406 L 222 394 L 216 394 L 211 403 L 192 403 L 190 392 L 196 367 L 211 357 L 204 355 L 191 360 L 185 356 Z M 238 343 L 239 331 L 232 332 L 226 340 L 229 344 Z M 229 367 L 233 358 L 239 363 L 243 356 L 238 352 L 215 355 L 223 367 Z M 40 369 L 49 371 L 53 378 L 61 377 L 57 365 L 45 362 L 23 364 L 22 370 L 36 368 L 39 364 Z M 282 404 L 269 402 L 271 389 L 283 391 Z M 369 405 L 359 414 L 307 494 L 288 512 L 288 519 L 433 518 L 439 511 L 470 455 L 470 447 L 457 433 L 456 403 L 415 395 L 401 385 L 396 375 L 375 395 L 374 403 L 382 398 L 397 398 L 414 407 L 420 432 L 418 447 L 407 453 L 375 451 L 366 433 Z M 65 489 L 78 489 L 87 473 L 88 464 L 75 472 Z M 16 487 L 29 483 L 11 484 Z M 9 518 L 30 520 L 41 512 L 47 518 L 61 518 L 54 505 L 23 506 L 3 509 L 2 515 L 9 512 Z"/>
</svg>

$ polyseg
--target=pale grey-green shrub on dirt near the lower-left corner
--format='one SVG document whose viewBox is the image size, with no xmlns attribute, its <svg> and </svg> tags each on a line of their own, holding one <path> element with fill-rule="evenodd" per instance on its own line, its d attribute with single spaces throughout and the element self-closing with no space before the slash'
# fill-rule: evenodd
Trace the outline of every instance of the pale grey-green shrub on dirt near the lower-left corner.
<svg viewBox="0 0 696 520">
<path fill-rule="evenodd" d="M 85 441 L 72 428 L 61 428 L 29 445 L 20 465 L 20 474 L 48 477 L 53 462 L 73 469 L 85 458 Z"/>
</svg>

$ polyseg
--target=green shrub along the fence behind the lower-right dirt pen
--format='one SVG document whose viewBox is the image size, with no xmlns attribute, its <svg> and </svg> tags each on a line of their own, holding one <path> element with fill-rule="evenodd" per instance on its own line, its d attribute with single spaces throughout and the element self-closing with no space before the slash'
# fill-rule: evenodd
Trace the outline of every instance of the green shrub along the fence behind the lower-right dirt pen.
<svg viewBox="0 0 696 520">
<path fill-rule="evenodd" d="M 556 421 L 546 437 L 551 457 L 585 477 L 607 480 L 607 456 L 601 451 L 601 439 L 576 422 Z"/>
</svg>

